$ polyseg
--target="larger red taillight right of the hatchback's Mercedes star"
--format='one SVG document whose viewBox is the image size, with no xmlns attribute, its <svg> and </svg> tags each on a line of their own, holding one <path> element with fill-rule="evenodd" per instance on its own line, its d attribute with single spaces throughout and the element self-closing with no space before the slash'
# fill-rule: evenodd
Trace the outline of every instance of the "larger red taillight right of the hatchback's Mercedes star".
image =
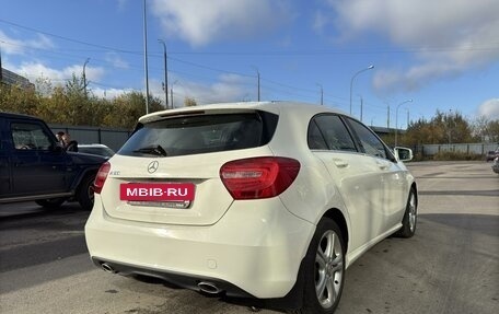
<svg viewBox="0 0 499 314">
<path fill-rule="evenodd" d="M 220 168 L 220 178 L 234 199 L 275 197 L 297 178 L 300 162 L 289 158 L 252 158 L 231 161 Z"/>
</svg>

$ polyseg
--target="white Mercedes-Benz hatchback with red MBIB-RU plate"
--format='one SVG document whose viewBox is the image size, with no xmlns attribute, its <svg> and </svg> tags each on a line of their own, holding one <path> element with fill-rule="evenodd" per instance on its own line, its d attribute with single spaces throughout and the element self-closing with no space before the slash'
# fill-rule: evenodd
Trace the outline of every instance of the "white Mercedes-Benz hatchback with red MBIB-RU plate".
<svg viewBox="0 0 499 314">
<path fill-rule="evenodd" d="M 325 106 L 149 114 L 95 178 L 86 244 L 108 272 L 333 313 L 353 260 L 414 235 L 411 156 Z"/>
</svg>

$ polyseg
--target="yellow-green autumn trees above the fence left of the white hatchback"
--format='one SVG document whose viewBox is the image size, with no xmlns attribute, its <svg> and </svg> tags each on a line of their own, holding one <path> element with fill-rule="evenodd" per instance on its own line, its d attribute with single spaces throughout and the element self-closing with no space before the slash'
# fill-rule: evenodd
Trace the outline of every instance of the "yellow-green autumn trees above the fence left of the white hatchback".
<svg viewBox="0 0 499 314">
<path fill-rule="evenodd" d="M 0 85 L 0 109 L 33 115 L 49 124 L 132 128 L 146 114 L 146 97 L 129 92 L 114 100 L 85 91 L 82 78 L 72 75 L 65 85 L 53 86 L 48 79 L 36 81 L 36 90 Z M 163 111 L 161 100 L 150 96 L 149 112 Z"/>
</svg>

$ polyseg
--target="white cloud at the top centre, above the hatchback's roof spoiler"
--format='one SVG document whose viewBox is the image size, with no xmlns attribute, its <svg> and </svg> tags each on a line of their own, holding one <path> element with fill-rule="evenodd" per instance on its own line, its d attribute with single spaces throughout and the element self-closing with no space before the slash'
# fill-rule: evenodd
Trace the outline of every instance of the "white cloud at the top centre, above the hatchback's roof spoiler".
<svg viewBox="0 0 499 314">
<path fill-rule="evenodd" d="M 268 34 L 292 16 L 288 5 L 282 0 L 154 0 L 152 13 L 170 37 L 202 46 Z"/>
</svg>

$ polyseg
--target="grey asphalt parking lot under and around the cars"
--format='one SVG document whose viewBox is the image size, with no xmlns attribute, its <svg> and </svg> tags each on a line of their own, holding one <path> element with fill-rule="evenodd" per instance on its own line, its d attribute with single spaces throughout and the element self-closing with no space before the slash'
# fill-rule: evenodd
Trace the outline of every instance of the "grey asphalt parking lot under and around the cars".
<svg viewBox="0 0 499 314">
<path fill-rule="evenodd" d="M 336 313 L 498 313 L 499 176 L 485 162 L 409 168 L 419 185 L 416 235 L 384 240 L 357 260 Z M 0 206 L 0 313 L 251 313 L 237 300 L 95 268 L 86 217 L 77 203 Z"/>
</svg>

